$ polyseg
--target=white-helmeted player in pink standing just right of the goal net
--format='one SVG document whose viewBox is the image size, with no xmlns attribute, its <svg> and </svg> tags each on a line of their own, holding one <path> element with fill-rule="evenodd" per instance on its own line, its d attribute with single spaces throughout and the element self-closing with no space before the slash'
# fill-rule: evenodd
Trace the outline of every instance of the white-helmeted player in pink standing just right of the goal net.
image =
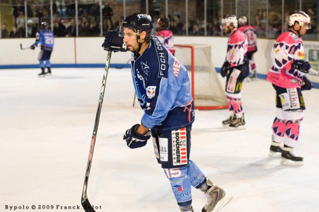
<svg viewBox="0 0 319 212">
<path fill-rule="evenodd" d="M 241 88 L 243 80 L 249 74 L 249 59 L 246 56 L 247 40 L 242 31 L 237 30 L 238 21 L 235 15 L 222 19 L 222 29 L 230 33 L 227 44 L 227 54 L 220 69 L 222 77 L 226 78 L 226 96 L 230 117 L 222 122 L 229 129 L 245 129 Z"/>
</svg>

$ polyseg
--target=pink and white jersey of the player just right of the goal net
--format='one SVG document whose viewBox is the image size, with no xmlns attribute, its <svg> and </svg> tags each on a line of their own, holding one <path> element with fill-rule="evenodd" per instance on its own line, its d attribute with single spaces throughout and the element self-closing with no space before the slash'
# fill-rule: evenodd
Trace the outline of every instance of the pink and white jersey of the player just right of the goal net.
<svg viewBox="0 0 319 212">
<path fill-rule="evenodd" d="M 244 63 L 244 56 L 247 52 L 247 40 L 242 31 L 236 30 L 228 38 L 226 61 L 231 67 Z"/>
</svg>

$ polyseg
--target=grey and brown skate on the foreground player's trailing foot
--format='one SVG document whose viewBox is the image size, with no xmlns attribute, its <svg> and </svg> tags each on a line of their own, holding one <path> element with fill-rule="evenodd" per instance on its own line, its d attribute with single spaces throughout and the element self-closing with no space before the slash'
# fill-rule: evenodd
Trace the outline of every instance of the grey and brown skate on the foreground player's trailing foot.
<svg viewBox="0 0 319 212">
<path fill-rule="evenodd" d="M 232 197 L 228 197 L 223 189 L 215 186 L 209 180 L 207 180 L 207 185 L 210 187 L 204 193 L 205 205 L 201 211 L 219 212 L 232 200 Z"/>
</svg>

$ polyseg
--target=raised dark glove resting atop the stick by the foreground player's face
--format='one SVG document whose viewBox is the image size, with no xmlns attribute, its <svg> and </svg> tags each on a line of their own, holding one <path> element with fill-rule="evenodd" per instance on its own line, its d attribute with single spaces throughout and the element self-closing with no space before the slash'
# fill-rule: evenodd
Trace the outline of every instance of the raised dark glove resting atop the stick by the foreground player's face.
<svg viewBox="0 0 319 212">
<path fill-rule="evenodd" d="M 123 37 L 119 36 L 117 31 L 108 31 L 106 32 L 104 43 L 102 44 L 104 50 L 107 51 L 127 51 L 128 48 L 123 42 Z"/>
</svg>

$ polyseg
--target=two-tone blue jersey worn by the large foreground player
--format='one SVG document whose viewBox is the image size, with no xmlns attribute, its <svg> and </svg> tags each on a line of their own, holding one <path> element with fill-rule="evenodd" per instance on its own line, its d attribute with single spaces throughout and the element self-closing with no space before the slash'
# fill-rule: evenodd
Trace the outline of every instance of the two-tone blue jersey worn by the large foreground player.
<svg viewBox="0 0 319 212">
<path fill-rule="evenodd" d="M 152 36 L 142 55 L 132 53 L 132 78 L 144 110 L 142 124 L 176 130 L 194 121 L 194 105 L 186 68 Z"/>
</svg>

